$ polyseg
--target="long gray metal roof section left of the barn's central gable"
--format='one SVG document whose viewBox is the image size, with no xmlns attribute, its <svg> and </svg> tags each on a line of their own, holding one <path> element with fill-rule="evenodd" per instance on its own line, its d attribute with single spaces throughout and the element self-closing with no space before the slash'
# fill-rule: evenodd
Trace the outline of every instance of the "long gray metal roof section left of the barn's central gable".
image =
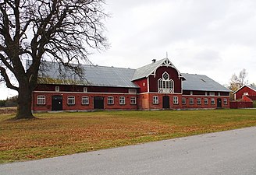
<svg viewBox="0 0 256 175">
<path fill-rule="evenodd" d="M 131 81 L 135 70 L 130 68 L 80 65 L 84 72 L 83 76 L 79 77 L 69 68 L 63 66 L 59 68 L 58 63 L 44 62 L 42 66 L 44 68 L 41 69 L 44 71 L 39 72 L 38 83 L 138 88 Z"/>
</svg>

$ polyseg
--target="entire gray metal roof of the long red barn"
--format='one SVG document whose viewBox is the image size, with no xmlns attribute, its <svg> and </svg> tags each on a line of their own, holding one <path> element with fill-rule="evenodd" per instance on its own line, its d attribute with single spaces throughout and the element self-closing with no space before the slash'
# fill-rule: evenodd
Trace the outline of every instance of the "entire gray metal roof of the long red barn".
<svg viewBox="0 0 256 175">
<path fill-rule="evenodd" d="M 80 65 L 80 68 L 83 70 L 83 77 L 76 75 L 69 68 L 59 67 L 58 63 L 44 61 L 38 73 L 38 83 L 139 88 L 132 81 L 151 75 L 155 68 L 158 68 L 166 59 L 137 69 Z M 27 65 L 30 64 L 31 61 L 27 61 Z M 183 81 L 184 90 L 230 92 L 229 89 L 208 78 L 206 75 L 187 73 L 181 75 L 186 79 Z"/>
</svg>

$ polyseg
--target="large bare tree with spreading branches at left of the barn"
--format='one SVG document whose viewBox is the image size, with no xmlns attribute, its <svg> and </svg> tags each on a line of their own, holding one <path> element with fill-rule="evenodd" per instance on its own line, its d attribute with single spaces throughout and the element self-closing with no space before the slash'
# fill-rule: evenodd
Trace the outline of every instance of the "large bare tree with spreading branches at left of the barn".
<svg viewBox="0 0 256 175">
<path fill-rule="evenodd" d="M 0 0 L 0 73 L 18 91 L 16 119 L 33 118 L 31 93 L 37 86 L 41 61 L 59 64 L 88 60 L 91 48 L 108 46 L 102 20 L 104 0 Z M 29 68 L 23 61 L 31 60 Z M 10 79 L 14 75 L 18 86 Z"/>
</svg>

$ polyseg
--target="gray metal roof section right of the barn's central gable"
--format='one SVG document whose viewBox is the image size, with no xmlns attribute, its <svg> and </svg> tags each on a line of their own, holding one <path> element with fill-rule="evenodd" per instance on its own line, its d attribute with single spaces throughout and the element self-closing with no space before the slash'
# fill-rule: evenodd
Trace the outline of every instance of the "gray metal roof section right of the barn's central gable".
<svg viewBox="0 0 256 175">
<path fill-rule="evenodd" d="M 183 81 L 183 90 L 203 90 L 203 91 L 219 91 L 231 92 L 226 87 L 210 79 L 206 75 L 186 74 L 182 73 L 186 81 Z"/>
</svg>

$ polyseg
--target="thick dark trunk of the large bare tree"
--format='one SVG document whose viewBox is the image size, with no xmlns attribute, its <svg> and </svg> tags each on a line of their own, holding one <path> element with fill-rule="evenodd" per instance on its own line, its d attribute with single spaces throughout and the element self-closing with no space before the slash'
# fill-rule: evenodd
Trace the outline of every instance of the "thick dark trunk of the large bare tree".
<svg viewBox="0 0 256 175">
<path fill-rule="evenodd" d="M 32 90 L 28 83 L 22 83 L 19 87 L 18 107 L 16 119 L 32 119 L 35 118 L 31 112 Z"/>
</svg>

